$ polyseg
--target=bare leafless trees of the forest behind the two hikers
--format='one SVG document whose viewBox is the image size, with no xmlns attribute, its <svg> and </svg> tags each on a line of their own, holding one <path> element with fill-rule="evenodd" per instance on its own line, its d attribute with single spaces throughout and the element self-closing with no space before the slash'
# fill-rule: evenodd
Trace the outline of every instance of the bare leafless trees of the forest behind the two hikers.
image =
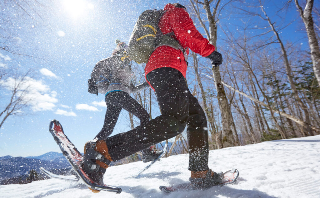
<svg viewBox="0 0 320 198">
<path fill-rule="evenodd" d="M 6 1 L 10 2 L 18 4 L 17 9 L 27 14 L 30 7 L 41 5 L 37 1 Z M 319 3 L 289 0 L 277 3 L 276 12 L 272 13 L 265 3 L 190 0 L 185 4 L 197 29 L 217 46 L 224 59 L 220 67 L 212 68 L 204 57 L 191 51 L 188 56 L 186 80 L 206 113 L 211 149 L 320 133 Z M 293 11 L 296 15 L 292 15 Z M 233 15 L 242 23 L 230 25 L 228 20 Z M 2 23 L 10 23 L 3 15 L 1 19 Z M 299 21 L 299 27 L 288 29 L 294 21 Z M 308 47 L 306 44 L 302 47 L 299 38 L 291 40 L 292 37 L 282 36 L 288 30 L 295 30 L 290 34 L 303 32 Z M 0 49 L 17 54 L 14 46 L 7 45 L 12 36 L 5 31 L 1 29 Z M 0 69 L 0 81 L 12 77 L 17 80 L 10 90 L 10 102 L 0 109 L 1 128 L 9 116 L 23 115 L 22 109 L 28 108 L 32 99 L 28 98 L 29 87 L 23 85 L 30 71 Z M 143 81 L 143 65 L 132 63 L 132 71 L 136 84 Z M 0 89 L 4 86 L 0 84 Z M 151 118 L 155 117 L 153 112 L 158 112 L 158 108 L 151 89 L 134 94 L 134 98 L 148 110 Z M 132 128 L 138 123 L 131 114 L 129 120 Z M 172 147 L 168 155 L 187 153 L 186 140 L 186 132 L 177 136 L 172 144 L 178 146 L 175 150 Z"/>
</svg>

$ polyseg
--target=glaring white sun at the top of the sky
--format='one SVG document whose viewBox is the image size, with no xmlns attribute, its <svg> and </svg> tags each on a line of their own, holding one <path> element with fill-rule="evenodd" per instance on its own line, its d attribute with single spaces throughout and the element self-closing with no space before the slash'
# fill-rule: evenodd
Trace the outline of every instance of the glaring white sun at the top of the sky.
<svg viewBox="0 0 320 198">
<path fill-rule="evenodd" d="M 63 6 L 73 18 L 83 16 L 89 9 L 94 9 L 93 4 L 84 0 L 64 0 Z"/>
</svg>

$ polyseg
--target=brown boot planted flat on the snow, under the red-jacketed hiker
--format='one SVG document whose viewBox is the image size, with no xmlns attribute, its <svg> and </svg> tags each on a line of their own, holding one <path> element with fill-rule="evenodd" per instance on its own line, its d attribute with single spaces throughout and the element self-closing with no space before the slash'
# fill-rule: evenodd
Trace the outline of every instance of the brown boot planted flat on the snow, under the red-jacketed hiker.
<svg viewBox="0 0 320 198">
<path fill-rule="evenodd" d="M 207 171 L 191 171 L 190 181 L 197 189 L 208 189 L 212 186 L 221 186 L 223 173 L 213 172 L 211 169 Z"/>
</svg>

